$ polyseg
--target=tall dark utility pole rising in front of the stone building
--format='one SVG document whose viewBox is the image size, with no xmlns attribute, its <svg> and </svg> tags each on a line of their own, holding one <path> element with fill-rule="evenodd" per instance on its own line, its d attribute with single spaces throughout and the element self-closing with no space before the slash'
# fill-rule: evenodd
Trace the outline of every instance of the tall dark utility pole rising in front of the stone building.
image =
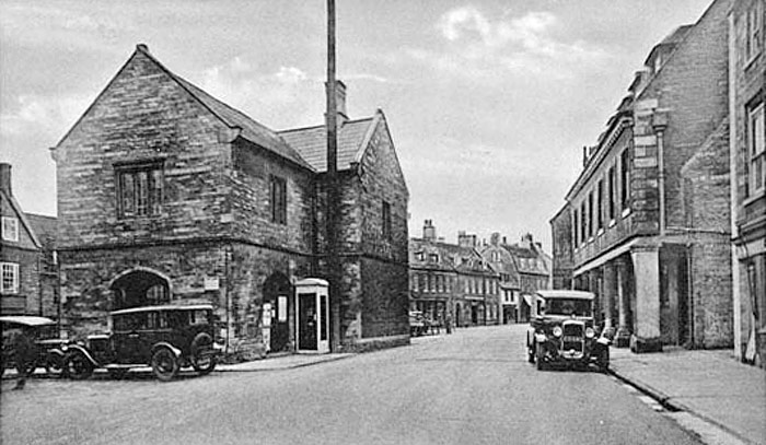
<svg viewBox="0 0 766 445">
<path fill-rule="evenodd" d="M 335 103 L 335 0 L 327 0 L 327 208 L 326 208 L 326 243 L 327 243 L 327 278 L 329 282 L 330 307 L 330 350 L 337 352 L 340 346 L 340 293 L 338 292 L 338 134 L 337 104 Z"/>
</svg>

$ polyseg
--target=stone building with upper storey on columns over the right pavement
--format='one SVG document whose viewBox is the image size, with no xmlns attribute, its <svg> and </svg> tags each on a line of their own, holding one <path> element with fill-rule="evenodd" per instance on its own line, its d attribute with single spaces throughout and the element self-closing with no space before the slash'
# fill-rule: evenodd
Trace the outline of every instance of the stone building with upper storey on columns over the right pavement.
<svg viewBox="0 0 766 445">
<path fill-rule="evenodd" d="M 597 316 L 635 351 L 732 343 L 730 7 L 713 1 L 652 48 L 554 219 L 554 243 L 572 245 L 573 288 L 599 295 Z"/>
</svg>

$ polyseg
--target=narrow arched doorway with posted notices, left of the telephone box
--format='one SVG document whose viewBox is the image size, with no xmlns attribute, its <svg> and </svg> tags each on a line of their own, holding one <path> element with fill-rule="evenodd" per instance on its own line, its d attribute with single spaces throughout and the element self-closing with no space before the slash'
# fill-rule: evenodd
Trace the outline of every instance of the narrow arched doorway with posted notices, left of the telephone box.
<svg viewBox="0 0 766 445">
<path fill-rule="evenodd" d="M 268 342 L 271 351 L 283 351 L 290 341 L 291 295 L 290 280 L 280 272 L 272 273 L 264 282 L 264 320 L 270 318 Z"/>
</svg>

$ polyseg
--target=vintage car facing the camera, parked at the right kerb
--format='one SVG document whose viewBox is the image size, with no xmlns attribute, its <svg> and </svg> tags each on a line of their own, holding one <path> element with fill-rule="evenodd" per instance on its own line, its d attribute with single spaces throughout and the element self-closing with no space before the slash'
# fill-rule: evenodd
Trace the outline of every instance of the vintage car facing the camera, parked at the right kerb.
<svg viewBox="0 0 766 445">
<path fill-rule="evenodd" d="M 610 366 L 607 332 L 593 323 L 593 300 L 590 292 L 548 290 L 537 291 L 543 298 L 542 314 L 530 321 L 526 353 L 538 370 L 549 365 L 596 364 Z"/>
</svg>

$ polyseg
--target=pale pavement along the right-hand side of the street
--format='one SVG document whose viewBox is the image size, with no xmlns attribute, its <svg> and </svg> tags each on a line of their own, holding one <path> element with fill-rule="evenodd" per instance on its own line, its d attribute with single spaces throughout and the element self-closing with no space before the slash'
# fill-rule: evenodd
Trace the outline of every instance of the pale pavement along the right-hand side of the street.
<svg viewBox="0 0 766 445">
<path fill-rule="evenodd" d="M 745 443 L 766 444 L 766 370 L 740 363 L 732 350 L 610 352 L 617 378 L 669 410 L 694 414 Z"/>
</svg>

